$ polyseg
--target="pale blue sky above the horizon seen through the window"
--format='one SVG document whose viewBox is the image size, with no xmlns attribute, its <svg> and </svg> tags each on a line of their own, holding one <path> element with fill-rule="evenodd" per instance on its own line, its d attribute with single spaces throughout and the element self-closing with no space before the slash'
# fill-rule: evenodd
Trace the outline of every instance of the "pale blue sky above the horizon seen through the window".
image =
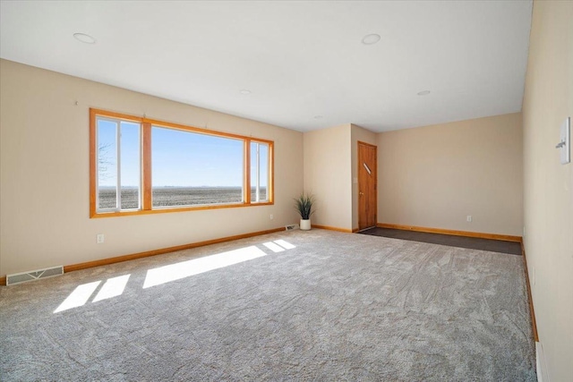
<svg viewBox="0 0 573 382">
<path fill-rule="evenodd" d="M 117 184 L 115 124 L 98 121 L 98 184 L 103 187 Z M 140 183 L 139 139 L 139 124 L 122 122 L 121 183 L 125 187 Z M 154 186 L 240 187 L 243 183 L 241 140 L 153 127 L 152 142 Z M 261 146 L 263 161 L 268 160 L 266 150 Z M 267 184 L 267 170 L 267 164 L 261 164 L 261 185 Z"/>
</svg>

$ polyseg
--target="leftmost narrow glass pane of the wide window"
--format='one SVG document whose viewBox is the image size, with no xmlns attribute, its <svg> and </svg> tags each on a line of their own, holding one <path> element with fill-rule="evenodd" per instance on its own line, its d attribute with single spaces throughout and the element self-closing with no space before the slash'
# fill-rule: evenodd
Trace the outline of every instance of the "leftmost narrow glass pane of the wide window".
<svg viewBox="0 0 573 382">
<path fill-rule="evenodd" d="M 117 207 L 117 123 L 98 119 L 98 208 Z"/>
</svg>

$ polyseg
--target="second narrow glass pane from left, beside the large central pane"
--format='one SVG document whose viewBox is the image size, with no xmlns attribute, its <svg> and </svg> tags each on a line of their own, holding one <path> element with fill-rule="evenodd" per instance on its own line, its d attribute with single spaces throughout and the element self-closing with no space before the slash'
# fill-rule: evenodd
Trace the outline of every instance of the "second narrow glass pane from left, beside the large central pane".
<svg viewBox="0 0 573 382">
<path fill-rule="evenodd" d="M 122 209 L 140 208 L 140 125 L 121 123 L 121 186 Z"/>
</svg>

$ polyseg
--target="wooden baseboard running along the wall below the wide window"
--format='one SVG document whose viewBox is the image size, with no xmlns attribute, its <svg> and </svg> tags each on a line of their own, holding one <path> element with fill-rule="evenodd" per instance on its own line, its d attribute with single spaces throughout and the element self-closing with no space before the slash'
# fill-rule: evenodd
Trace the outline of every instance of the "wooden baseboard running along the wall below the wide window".
<svg viewBox="0 0 573 382">
<path fill-rule="evenodd" d="M 87 269 L 90 267 L 107 266 L 110 264 L 120 263 L 123 261 L 129 261 L 129 260 L 134 260 L 134 259 L 149 258 L 150 256 L 156 256 L 156 255 L 161 255 L 164 253 L 175 252 L 175 250 L 189 250 L 192 248 L 202 247 L 205 245 L 217 244 L 218 242 L 231 242 L 233 240 L 245 239 L 247 237 L 259 236 L 261 234 L 266 234 L 266 233 L 276 233 L 276 232 L 284 231 L 284 230 L 285 230 L 285 228 L 274 228 L 274 229 L 270 229 L 270 230 L 266 230 L 266 231 L 237 234 L 235 236 L 227 236 L 227 237 L 222 237 L 219 239 L 207 240 L 204 242 L 192 242 L 189 244 L 176 245 L 175 247 L 162 248 L 159 250 L 146 250 L 144 252 L 132 253 L 130 255 L 118 256 L 115 258 L 87 261 L 85 263 L 79 263 L 79 264 L 64 266 L 64 273 L 73 272 L 73 271 L 81 270 L 81 269 Z M 5 285 L 5 284 L 6 284 L 6 276 L 0 277 L 0 285 Z"/>
</svg>

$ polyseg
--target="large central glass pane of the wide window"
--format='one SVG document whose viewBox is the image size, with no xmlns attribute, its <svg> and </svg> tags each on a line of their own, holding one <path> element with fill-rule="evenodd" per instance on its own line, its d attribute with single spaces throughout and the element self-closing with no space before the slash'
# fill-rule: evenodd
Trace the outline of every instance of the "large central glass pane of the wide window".
<svg viewBox="0 0 573 382">
<path fill-rule="evenodd" d="M 243 201 L 243 140 L 151 128 L 153 207 Z"/>
</svg>

